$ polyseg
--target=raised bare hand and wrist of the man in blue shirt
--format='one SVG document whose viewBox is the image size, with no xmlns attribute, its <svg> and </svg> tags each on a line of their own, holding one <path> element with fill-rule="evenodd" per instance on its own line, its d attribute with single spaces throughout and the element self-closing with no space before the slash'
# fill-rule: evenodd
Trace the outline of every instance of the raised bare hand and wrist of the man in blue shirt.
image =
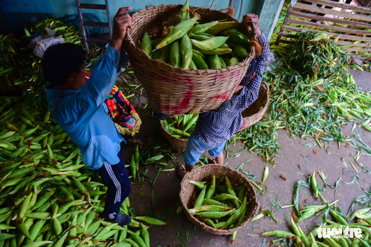
<svg viewBox="0 0 371 247">
<path fill-rule="evenodd" d="M 130 16 L 127 11 L 132 10 L 131 7 L 120 8 L 113 18 L 113 31 L 110 45 L 116 50 L 120 51 L 122 41 L 126 36 L 127 27 L 132 27 L 134 17 Z"/>
</svg>

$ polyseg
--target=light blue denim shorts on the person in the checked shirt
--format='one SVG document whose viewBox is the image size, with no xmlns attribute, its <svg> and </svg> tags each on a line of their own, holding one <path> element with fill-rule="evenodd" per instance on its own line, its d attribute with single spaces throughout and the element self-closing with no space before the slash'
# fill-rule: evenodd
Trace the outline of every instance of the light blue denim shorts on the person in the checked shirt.
<svg viewBox="0 0 371 247">
<path fill-rule="evenodd" d="M 212 157 L 218 157 L 222 154 L 226 142 L 227 141 L 215 146 L 207 146 L 200 142 L 200 140 L 198 140 L 192 133 L 188 139 L 187 148 L 185 148 L 184 151 L 184 162 L 189 165 L 194 165 L 198 162 L 200 156 L 206 151 L 209 151 L 209 154 Z"/>
</svg>

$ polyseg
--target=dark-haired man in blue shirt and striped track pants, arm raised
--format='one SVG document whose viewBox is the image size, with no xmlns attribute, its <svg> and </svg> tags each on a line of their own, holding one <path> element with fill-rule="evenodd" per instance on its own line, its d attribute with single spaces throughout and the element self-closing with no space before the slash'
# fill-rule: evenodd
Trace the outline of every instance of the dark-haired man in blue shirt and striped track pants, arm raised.
<svg viewBox="0 0 371 247">
<path fill-rule="evenodd" d="M 120 143 L 125 139 L 104 111 L 104 100 L 111 92 L 125 53 L 120 55 L 127 27 L 134 20 L 120 8 L 113 19 L 112 38 L 105 54 L 92 68 L 85 83 L 85 51 L 71 43 L 48 48 L 43 57 L 48 106 L 55 121 L 75 142 L 84 164 L 99 173 L 107 186 L 103 217 L 119 225 L 128 225 L 130 216 L 119 213 L 130 194 L 130 180 L 122 160 Z M 123 64 L 122 64 L 123 65 Z"/>
</svg>

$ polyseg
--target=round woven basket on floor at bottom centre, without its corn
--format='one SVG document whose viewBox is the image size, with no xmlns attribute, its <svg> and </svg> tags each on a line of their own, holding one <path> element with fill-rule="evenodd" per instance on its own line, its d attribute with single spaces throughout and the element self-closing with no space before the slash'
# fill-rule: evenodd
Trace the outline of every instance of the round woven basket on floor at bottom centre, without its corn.
<svg viewBox="0 0 371 247">
<path fill-rule="evenodd" d="M 197 194 L 200 192 L 200 189 L 191 184 L 190 181 L 211 181 L 212 174 L 214 174 L 215 177 L 218 178 L 216 181 L 217 184 L 225 185 L 224 177 L 227 176 L 233 186 L 237 186 L 240 188 L 243 185 L 246 186 L 247 213 L 241 225 L 237 226 L 236 228 L 225 230 L 212 228 L 192 216 L 187 209 L 190 208 L 191 202 L 195 200 Z M 187 218 L 196 226 L 200 227 L 202 230 L 213 234 L 228 235 L 232 234 L 238 229 L 243 228 L 253 218 L 253 215 L 258 208 L 255 191 L 249 180 L 242 173 L 233 170 L 225 165 L 208 164 L 196 167 L 184 176 L 183 180 L 181 181 L 180 187 L 181 189 L 179 196 Z"/>
</svg>

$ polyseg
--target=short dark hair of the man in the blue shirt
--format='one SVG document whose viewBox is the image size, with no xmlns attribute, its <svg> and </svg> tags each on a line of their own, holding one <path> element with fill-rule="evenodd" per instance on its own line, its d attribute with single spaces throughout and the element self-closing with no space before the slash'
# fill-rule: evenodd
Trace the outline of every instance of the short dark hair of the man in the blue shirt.
<svg viewBox="0 0 371 247">
<path fill-rule="evenodd" d="M 84 49 L 72 43 L 50 46 L 43 55 L 43 71 L 46 80 L 53 86 L 64 84 L 68 74 L 78 72 L 85 63 Z"/>
</svg>

